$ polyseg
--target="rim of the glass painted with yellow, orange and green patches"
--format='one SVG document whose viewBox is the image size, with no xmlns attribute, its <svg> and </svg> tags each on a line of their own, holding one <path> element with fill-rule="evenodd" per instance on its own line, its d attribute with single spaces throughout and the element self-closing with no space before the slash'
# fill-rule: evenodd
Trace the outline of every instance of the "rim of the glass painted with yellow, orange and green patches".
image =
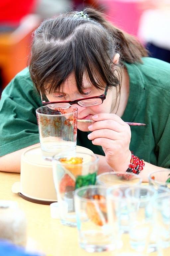
<svg viewBox="0 0 170 256">
<path fill-rule="evenodd" d="M 73 151 L 73 150 L 72 150 L 72 151 Z M 71 151 L 71 152 L 72 152 L 72 151 Z M 70 151 L 68 150 L 67 152 L 69 153 Z M 56 163 L 58 163 L 59 165 L 64 164 L 65 166 L 70 166 L 70 165 L 73 166 L 72 164 L 65 164 L 65 163 L 62 163 L 62 162 L 60 162 L 59 160 L 55 159 L 55 157 L 56 157 L 56 156 L 58 157 L 59 154 L 66 155 L 67 152 L 65 152 L 65 153 L 61 152 L 61 153 L 55 154 L 55 155 L 52 157 L 52 162 L 56 162 Z M 86 165 L 86 164 L 92 165 L 92 164 L 96 164 L 97 162 L 99 162 L 99 157 L 98 157 L 96 154 L 85 153 L 85 152 L 75 152 L 75 154 L 76 154 L 76 153 L 77 153 L 77 154 L 84 154 L 84 155 L 88 155 L 88 156 L 95 157 L 94 161 L 85 162 L 84 165 Z M 68 157 L 69 157 L 69 155 L 68 155 Z M 74 157 L 74 156 L 70 155 L 70 158 L 71 158 L 71 157 Z M 64 157 L 60 156 L 60 158 L 64 158 Z M 81 164 L 74 164 L 74 165 L 75 165 L 75 166 L 82 166 L 83 163 L 81 163 Z"/>
</svg>

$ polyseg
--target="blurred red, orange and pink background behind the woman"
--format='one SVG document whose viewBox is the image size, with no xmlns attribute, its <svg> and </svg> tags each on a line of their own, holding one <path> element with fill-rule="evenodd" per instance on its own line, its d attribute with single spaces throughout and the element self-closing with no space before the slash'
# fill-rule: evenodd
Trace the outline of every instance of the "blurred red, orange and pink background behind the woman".
<svg viewBox="0 0 170 256">
<path fill-rule="evenodd" d="M 40 22 L 70 9 L 92 6 L 137 37 L 150 56 L 170 62 L 170 0 L 1 0 L 0 95 L 27 66 L 32 32 Z"/>
</svg>

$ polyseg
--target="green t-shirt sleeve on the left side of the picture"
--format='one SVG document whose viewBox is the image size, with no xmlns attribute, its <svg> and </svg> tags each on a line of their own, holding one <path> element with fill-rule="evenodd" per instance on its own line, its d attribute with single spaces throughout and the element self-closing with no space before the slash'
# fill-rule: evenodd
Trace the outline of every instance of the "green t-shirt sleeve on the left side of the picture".
<svg viewBox="0 0 170 256">
<path fill-rule="evenodd" d="M 40 142 L 36 109 L 40 96 L 29 72 L 19 73 L 4 89 L 0 101 L 0 156 Z"/>
</svg>

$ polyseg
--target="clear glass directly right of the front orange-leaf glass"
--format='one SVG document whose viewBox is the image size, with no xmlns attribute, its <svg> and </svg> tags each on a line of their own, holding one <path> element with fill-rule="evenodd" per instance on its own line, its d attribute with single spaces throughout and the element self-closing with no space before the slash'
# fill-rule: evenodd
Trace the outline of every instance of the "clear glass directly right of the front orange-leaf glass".
<svg viewBox="0 0 170 256">
<path fill-rule="evenodd" d="M 153 232 L 153 208 L 151 199 L 156 191 L 149 186 L 133 186 L 125 191 L 129 214 L 130 246 L 147 255 Z"/>
</svg>

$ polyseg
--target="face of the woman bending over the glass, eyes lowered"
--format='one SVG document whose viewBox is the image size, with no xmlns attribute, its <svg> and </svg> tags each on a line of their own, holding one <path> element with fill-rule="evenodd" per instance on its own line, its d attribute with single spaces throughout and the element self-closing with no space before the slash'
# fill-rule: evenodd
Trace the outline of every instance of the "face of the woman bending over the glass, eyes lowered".
<svg viewBox="0 0 170 256">
<path fill-rule="evenodd" d="M 99 96 L 104 94 L 105 89 L 98 90 L 87 80 L 86 76 L 83 76 L 83 94 L 80 94 L 77 90 L 75 77 L 71 74 L 63 86 L 63 93 L 51 93 L 46 94 L 49 101 L 64 101 L 64 100 L 76 100 L 80 98 L 87 98 L 93 96 Z M 101 105 L 92 107 L 82 107 L 78 104 L 74 104 L 78 108 L 78 119 L 91 119 L 93 115 L 99 113 L 111 113 L 112 106 L 115 104 L 115 93 L 113 90 L 108 90 L 106 99 Z M 89 123 L 78 122 L 77 128 L 81 131 L 89 131 Z"/>
</svg>

